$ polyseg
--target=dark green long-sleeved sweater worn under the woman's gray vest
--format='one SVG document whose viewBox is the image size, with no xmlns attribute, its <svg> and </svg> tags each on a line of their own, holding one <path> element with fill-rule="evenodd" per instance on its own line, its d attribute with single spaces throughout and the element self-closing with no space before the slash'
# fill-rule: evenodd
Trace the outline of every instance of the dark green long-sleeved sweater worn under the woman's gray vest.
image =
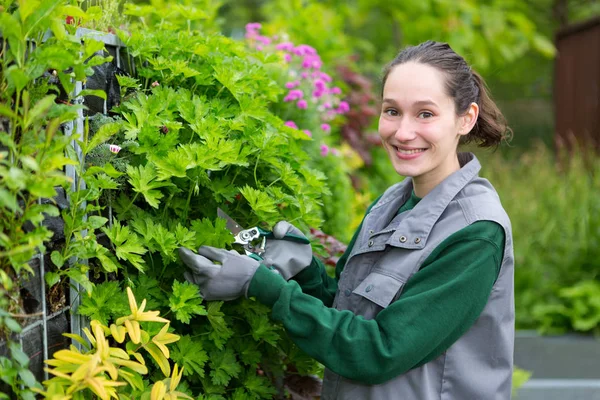
<svg viewBox="0 0 600 400">
<path fill-rule="evenodd" d="M 419 200 L 413 194 L 399 213 Z M 505 237 L 503 228 L 491 221 L 475 222 L 449 236 L 408 280 L 398 300 L 367 320 L 331 308 L 361 226 L 337 263 L 336 278 L 316 258 L 288 282 L 261 266 L 248 296 L 272 307 L 273 319 L 327 368 L 379 384 L 434 360 L 469 330 L 498 277 Z"/>
</svg>

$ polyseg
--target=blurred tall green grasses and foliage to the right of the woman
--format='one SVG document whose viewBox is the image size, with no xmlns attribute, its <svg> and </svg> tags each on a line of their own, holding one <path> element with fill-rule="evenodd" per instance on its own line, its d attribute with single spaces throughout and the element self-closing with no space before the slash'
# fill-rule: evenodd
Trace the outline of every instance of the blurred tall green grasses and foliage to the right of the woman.
<svg viewBox="0 0 600 400">
<path fill-rule="evenodd" d="M 597 330 L 600 164 L 584 153 L 480 154 L 512 221 L 518 328 Z"/>
</svg>

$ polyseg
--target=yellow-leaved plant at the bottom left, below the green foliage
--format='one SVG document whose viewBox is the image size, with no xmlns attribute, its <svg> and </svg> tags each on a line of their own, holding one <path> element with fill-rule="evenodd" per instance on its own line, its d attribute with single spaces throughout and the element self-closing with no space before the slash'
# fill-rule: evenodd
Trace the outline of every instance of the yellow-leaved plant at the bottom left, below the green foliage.
<svg viewBox="0 0 600 400">
<path fill-rule="evenodd" d="M 190 398 L 178 392 L 183 368 L 175 364 L 171 374 L 169 349 L 167 344 L 179 340 L 179 336 L 169 333 L 169 320 L 159 317 L 158 311 L 144 311 L 146 300 L 138 307 L 133 292 L 127 288 L 131 314 L 121 317 L 110 326 L 93 320 L 91 331 L 84 329 L 85 336 L 64 334 L 82 346 L 74 345 L 68 350 L 59 350 L 54 358 L 46 363 L 46 370 L 54 375 L 44 382 L 45 391 L 36 390 L 47 399 L 83 399 L 90 394 L 102 400 L 110 398 L 130 398 L 134 394 L 147 396 L 151 400 Z M 160 331 L 151 335 L 142 329 L 140 323 L 164 323 Z M 111 340 L 112 339 L 112 340 Z M 148 387 L 142 376 L 148 374 L 142 350 L 156 361 L 165 379 Z"/>
</svg>

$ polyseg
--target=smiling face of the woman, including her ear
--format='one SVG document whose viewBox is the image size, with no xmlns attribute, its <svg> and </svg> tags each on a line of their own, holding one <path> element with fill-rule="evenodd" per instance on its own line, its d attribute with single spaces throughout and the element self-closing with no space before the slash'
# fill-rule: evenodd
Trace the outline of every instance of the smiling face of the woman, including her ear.
<svg viewBox="0 0 600 400">
<path fill-rule="evenodd" d="M 432 188 L 458 170 L 458 141 L 477 111 L 473 103 L 465 116 L 456 115 L 438 69 L 416 62 L 394 67 L 383 88 L 379 135 L 396 172 Z"/>
</svg>

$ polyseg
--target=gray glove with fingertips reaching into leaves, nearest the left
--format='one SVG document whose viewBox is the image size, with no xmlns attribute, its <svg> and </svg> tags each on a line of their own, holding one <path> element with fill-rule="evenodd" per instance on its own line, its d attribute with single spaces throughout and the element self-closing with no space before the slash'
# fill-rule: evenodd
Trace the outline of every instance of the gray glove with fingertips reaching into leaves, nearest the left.
<svg viewBox="0 0 600 400">
<path fill-rule="evenodd" d="M 250 281 L 260 266 L 259 262 L 234 250 L 227 251 L 201 246 L 198 254 L 184 247 L 179 257 L 190 269 L 185 279 L 195 283 L 205 300 L 235 300 L 247 296 Z M 214 263 L 217 261 L 221 265 Z"/>
</svg>

